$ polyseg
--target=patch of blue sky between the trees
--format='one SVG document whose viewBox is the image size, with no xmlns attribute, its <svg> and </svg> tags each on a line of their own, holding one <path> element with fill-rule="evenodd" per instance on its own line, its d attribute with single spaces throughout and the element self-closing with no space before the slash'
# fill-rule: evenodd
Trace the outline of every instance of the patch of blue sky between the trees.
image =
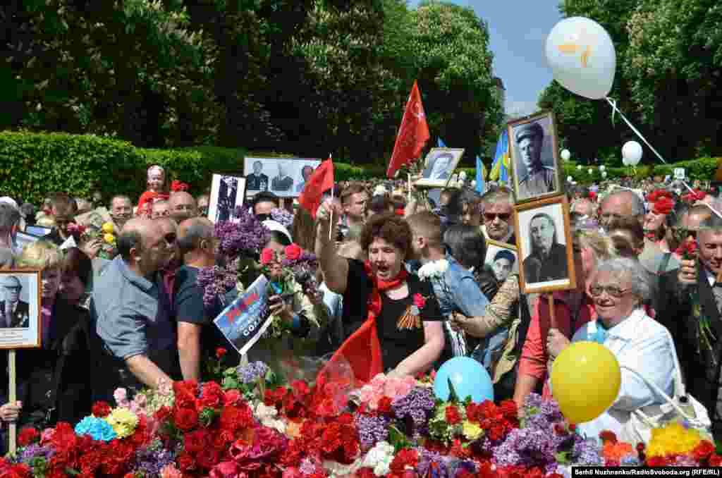
<svg viewBox="0 0 722 478">
<path fill-rule="evenodd" d="M 506 110 L 533 113 L 539 93 L 552 81 L 544 43 L 562 19 L 559 0 L 452 0 L 471 6 L 489 25 L 494 74 L 506 87 Z M 409 0 L 415 7 L 419 0 Z"/>
</svg>

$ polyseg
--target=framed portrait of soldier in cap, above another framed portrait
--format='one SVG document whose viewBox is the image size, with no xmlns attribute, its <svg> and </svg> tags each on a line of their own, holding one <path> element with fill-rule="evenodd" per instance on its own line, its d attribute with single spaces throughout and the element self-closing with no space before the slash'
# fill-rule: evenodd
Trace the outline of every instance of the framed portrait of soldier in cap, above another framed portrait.
<svg viewBox="0 0 722 478">
<path fill-rule="evenodd" d="M 560 160 L 554 113 L 510 121 L 512 183 L 518 203 L 561 194 Z"/>
</svg>

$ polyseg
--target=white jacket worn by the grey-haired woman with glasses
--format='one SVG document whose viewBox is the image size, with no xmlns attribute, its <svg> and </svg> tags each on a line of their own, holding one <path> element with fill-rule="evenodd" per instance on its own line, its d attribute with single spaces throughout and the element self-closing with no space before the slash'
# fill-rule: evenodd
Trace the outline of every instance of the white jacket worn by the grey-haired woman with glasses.
<svg viewBox="0 0 722 478">
<path fill-rule="evenodd" d="M 596 328 L 596 322 L 586 323 L 576 331 L 572 342 L 594 342 Z M 620 435 L 632 411 L 664 403 L 639 375 L 625 368 L 643 374 L 668 396 L 674 394 L 674 342 L 661 323 L 647 316 L 643 309 L 637 309 L 607 333 L 604 347 L 612 351 L 623 367 L 622 383 L 612 407 L 591 422 L 578 425 L 579 433 L 588 438 L 598 438 L 603 430 Z"/>
</svg>

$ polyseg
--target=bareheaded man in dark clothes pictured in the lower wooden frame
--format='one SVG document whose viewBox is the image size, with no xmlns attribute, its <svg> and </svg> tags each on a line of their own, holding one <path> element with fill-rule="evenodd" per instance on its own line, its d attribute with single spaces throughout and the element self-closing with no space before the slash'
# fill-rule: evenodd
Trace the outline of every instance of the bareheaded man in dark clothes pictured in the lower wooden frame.
<svg viewBox="0 0 722 478">
<path fill-rule="evenodd" d="M 557 242 L 557 227 L 549 214 L 539 212 L 529 221 L 531 254 L 524 259 L 524 280 L 528 283 L 566 279 L 567 248 Z"/>
</svg>

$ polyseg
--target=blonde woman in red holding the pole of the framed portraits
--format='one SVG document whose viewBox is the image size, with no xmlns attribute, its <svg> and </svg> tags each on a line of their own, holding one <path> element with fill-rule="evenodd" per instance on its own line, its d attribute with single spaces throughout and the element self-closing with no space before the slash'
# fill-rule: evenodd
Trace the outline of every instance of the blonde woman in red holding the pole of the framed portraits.
<svg viewBox="0 0 722 478">
<path fill-rule="evenodd" d="M 559 355 L 581 326 L 589 321 L 596 321 L 596 310 L 591 296 L 588 295 L 588 286 L 597 262 L 612 256 L 612 245 L 598 232 L 598 227 L 588 225 L 575 230 L 573 248 L 577 288 L 553 293 L 556 323 L 552 324 L 546 297 L 539 297 L 534 304 L 529 331 L 521 350 L 514 390 L 514 401 L 519 407 L 526 396 L 546 381 L 549 360 Z M 547 386 L 544 387 L 544 395 L 550 395 Z"/>
</svg>

